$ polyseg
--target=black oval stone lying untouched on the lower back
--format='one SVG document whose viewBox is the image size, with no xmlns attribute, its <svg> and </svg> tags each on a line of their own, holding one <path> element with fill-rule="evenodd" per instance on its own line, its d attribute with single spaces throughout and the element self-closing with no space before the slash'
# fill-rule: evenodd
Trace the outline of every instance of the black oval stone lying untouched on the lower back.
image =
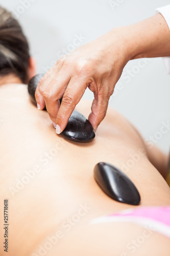
<svg viewBox="0 0 170 256">
<path fill-rule="evenodd" d="M 105 162 L 96 164 L 94 178 L 112 199 L 125 204 L 140 203 L 140 195 L 133 182 L 114 165 Z"/>
</svg>

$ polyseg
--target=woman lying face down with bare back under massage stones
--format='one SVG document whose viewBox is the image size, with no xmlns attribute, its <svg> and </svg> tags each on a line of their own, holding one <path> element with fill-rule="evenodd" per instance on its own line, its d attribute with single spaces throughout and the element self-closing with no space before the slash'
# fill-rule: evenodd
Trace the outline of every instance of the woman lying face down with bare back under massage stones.
<svg viewBox="0 0 170 256">
<path fill-rule="evenodd" d="M 0 218 L 8 200 L 8 255 L 168 256 L 169 238 L 148 223 L 96 221 L 122 210 L 168 206 L 166 156 L 148 148 L 111 109 L 90 143 L 57 135 L 47 112 L 38 111 L 28 95 L 25 83 L 34 65 L 27 40 L 11 15 L 0 12 Z M 82 100 L 77 111 L 87 116 L 89 108 Z M 98 162 L 117 166 L 133 181 L 139 206 L 116 202 L 101 190 L 93 177 Z M 1 225 L 0 255 L 6 255 L 4 232 Z"/>
</svg>

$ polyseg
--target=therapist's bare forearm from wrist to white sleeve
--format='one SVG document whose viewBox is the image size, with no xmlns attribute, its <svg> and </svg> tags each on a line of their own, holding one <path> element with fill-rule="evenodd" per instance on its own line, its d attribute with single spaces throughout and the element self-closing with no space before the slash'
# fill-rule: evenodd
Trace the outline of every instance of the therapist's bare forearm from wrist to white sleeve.
<svg viewBox="0 0 170 256">
<path fill-rule="evenodd" d="M 170 56 L 170 31 L 161 14 L 113 31 L 123 36 L 129 60 Z"/>
</svg>

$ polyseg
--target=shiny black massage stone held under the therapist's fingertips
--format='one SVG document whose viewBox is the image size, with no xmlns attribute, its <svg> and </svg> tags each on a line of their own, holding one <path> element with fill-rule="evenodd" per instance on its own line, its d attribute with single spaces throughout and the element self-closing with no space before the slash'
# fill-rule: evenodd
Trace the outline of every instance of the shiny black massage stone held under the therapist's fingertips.
<svg viewBox="0 0 170 256">
<path fill-rule="evenodd" d="M 72 112 L 67 126 L 61 134 L 63 137 L 76 142 L 90 142 L 95 137 L 91 123 L 76 110 Z"/>
</svg>

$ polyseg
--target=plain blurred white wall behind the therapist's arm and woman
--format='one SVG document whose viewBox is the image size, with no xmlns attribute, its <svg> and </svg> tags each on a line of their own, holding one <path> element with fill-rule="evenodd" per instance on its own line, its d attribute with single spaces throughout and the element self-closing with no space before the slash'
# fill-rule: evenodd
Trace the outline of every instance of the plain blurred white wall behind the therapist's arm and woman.
<svg viewBox="0 0 170 256">
<path fill-rule="evenodd" d="M 85 39 L 99 37 L 115 26 L 136 23 L 155 14 L 168 0 L 0 0 L 0 4 L 18 17 L 37 62 L 37 72 L 44 72 L 59 55 L 74 46 L 75 34 Z M 25 6 L 25 7 L 23 7 Z M 170 33 L 170 32 L 169 32 Z M 114 46 L 113 46 L 114 47 Z M 162 150 L 168 152 L 170 131 L 160 136 L 162 122 L 170 122 L 170 75 L 161 58 L 153 58 L 139 68 L 139 60 L 130 61 L 120 78 L 122 90 L 111 98 L 110 106 L 126 116 L 144 138 L 154 136 Z M 97 67 L 96 67 L 97 68 Z M 128 70 L 133 77 L 125 78 Z M 136 73 L 135 73 L 136 72 Z M 92 99 L 87 89 L 85 98 Z M 158 136 L 158 137 L 157 137 Z M 156 139 L 156 137 L 158 139 Z"/>
</svg>

